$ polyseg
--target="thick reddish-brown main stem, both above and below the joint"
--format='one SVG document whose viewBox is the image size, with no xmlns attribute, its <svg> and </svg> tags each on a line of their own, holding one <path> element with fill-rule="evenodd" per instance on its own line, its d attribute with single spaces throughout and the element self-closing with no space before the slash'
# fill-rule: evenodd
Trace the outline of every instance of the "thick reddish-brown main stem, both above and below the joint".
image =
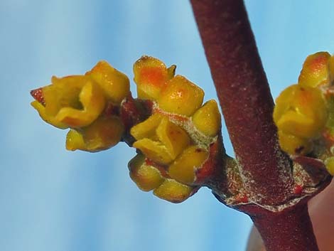
<svg viewBox="0 0 334 251">
<path fill-rule="evenodd" d="M 268 251 L 318 251 L 308 198 L 291 202 L 292 161 L 279 148 L 274 102 L 243 1 L 191 0 L 191 4 L 251 202 L 238 210 L 251 215 Z M 219 193 L 215 195 L 225 202 Z M 271 211 L 266 205 L 282 206 Z"/>
</svg>

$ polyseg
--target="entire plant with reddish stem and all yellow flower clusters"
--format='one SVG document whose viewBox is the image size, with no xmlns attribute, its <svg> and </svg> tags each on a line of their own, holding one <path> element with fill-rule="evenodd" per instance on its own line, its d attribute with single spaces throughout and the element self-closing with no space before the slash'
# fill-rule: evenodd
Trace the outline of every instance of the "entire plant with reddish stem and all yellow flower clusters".
<svg viewBox="0 0 334 251">
<path fill-rule="evenodd" d="M 128 167 L 141 190 L 181 203 L 207 186 L 252 218 L 268 251 L 318 250 L 307 201 L 334 173 L 334 57 L 308 56 L 274 109 L 243 2 L 191 3 L 235 159 L 225 153 L 217 102 L 203 104 L 200 87 L 150 56 L 134 63 L 136 98 L 129 78 L 100 61 L 33 90 L 33 107 L 70 129 L 68 150 L 134 147 Z"/>
</svg>

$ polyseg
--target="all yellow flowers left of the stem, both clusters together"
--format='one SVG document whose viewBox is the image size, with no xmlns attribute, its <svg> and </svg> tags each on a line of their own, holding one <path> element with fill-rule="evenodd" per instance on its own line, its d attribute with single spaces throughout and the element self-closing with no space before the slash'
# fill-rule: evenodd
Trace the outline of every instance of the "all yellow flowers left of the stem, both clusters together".
<svg viewBox="0 0 334 251">
<path fill-rule="evenodd" d="M 51 85 L 33 92 L 32 105 L 45 122 L 70 128 L 66 148 L 72 151 L 108 149 L 131 135 L 138 153 L 129 162 L 132 180 L 141 190 L 179 203 L 205 181 L 198 173 L 210 175 L 207 162 L 217 149 L 221 117 L 217 103 L 203 105 L 203 90 L 175 70 L 148 56 L 136 61 L 138 100 L 149 101 L 151 108 L 149 117 L 131 128 L 121 116 L 131 97 L 129 79 L 105 61 L 85 75 L 53 77 Z"/>
</svg>

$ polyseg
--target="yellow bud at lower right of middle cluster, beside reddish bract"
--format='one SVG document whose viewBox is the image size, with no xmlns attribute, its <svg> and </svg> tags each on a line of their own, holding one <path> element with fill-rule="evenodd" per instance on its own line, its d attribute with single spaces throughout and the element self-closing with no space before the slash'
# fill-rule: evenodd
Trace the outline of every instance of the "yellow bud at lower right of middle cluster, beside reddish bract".
<svg viewBox="0 0 334 251">
<path fill-rule="evenodd" d="M 198 146 L 190 146 L 169 166 L 168 174 L 176 181 L 192 184 L 195 181 L 195 172 L 208 159 L 209 153 Z"/>
</svg>

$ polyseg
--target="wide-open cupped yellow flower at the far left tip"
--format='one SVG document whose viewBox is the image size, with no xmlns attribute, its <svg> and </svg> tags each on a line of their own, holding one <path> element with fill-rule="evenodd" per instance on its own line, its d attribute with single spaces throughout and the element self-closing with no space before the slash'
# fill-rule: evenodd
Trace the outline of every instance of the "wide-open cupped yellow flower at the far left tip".
<svg viewBox="0 0 334 251">
<path fill-rule="evenodd" d="M 45 106 L 33 102 L 42 119 L 58 128 L 86 127 L 104 109 L 100 87 L 87 76 L 52 78 L 52 85 L 42 88 Z"/>
</svg>

